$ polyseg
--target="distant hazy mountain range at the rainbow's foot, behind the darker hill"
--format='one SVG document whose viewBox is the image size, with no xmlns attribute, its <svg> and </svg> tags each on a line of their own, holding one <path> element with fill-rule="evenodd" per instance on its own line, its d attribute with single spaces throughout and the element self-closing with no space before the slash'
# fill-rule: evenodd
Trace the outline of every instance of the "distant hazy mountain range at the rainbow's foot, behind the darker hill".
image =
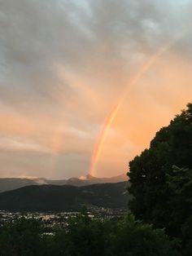
<svg viewBox="0 0 192 256">
<path fill-rule="evenodd" d="M 31 185 L 72 185 L 76 187 L 82 187 L 92 184 L 100 183 L 120 183 L 128 180 L 126 174 L 121 174 L 111 178 L 96 178 L 87 174 L 81 176 L 80 178 L 71 178 L 71 179 L 59 179 L 51 180 L 45 178 L 1 178 L 0 179 L 0 192 L 6 192 L 14 190 L 17 188 L 23 188 Z"/>
</svg>

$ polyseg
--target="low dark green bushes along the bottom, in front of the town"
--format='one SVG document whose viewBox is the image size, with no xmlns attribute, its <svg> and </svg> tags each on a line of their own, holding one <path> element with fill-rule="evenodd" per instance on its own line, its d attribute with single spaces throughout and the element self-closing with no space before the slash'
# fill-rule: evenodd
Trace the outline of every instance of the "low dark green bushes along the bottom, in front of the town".
<svg viewBox="0 0 192 256">
<path fill-rule="evenodd" d="M 0 230 L 1 256 L 177 256 L 177 241 L 164 230 L 136 221 L 128 214 L 120 221 L 89 218 L 86 212 L 71 218 L 68 227 L 44 233 L 42 223 L 18 219 Z"/>
</svg>

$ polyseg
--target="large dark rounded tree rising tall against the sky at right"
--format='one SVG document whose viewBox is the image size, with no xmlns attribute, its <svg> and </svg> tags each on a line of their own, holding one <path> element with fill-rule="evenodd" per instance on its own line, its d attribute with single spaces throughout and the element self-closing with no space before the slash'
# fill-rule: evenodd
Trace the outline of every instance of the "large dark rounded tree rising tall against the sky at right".
<svg viewBox="0 0 192 256">
<path fill-rule="evenodd" d="M 182 255 L 186 246 L 192 254 L 192 104 L 160 129 L 129 166 L 133 214 L 165 227 L 168 235 L 181 238 Z"/>
</svg>

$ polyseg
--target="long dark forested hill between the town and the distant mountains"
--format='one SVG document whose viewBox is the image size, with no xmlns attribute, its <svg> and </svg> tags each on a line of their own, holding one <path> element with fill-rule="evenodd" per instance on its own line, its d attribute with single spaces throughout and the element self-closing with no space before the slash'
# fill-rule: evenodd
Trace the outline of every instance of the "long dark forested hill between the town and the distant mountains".
<svg viewBox="0 0 192 256">
<path fill-rule="evenodd" d="M 28 186 L 0 193 L 0 210 L 60 211 L 80 210 L 81 205 L 126 209 L 127 182 L 94 184 L 85 187 L 70 185 Z"/>
</svg>

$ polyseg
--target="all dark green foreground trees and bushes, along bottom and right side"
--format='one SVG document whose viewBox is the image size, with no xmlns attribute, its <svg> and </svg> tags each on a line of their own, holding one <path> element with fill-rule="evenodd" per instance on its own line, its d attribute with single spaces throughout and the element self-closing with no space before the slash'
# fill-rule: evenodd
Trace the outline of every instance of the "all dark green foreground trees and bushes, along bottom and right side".
<svg viewBox="0 0 192 256">
<path fill-rule="evenodd" d="M 192 255 L 192 104 L 129 166 L 133 199 L 124 219 L 92 219 L 84 210 L 47 234 L 41 221 L 20 218 L 0 228 L 0 255 Z"/>
</svg>

